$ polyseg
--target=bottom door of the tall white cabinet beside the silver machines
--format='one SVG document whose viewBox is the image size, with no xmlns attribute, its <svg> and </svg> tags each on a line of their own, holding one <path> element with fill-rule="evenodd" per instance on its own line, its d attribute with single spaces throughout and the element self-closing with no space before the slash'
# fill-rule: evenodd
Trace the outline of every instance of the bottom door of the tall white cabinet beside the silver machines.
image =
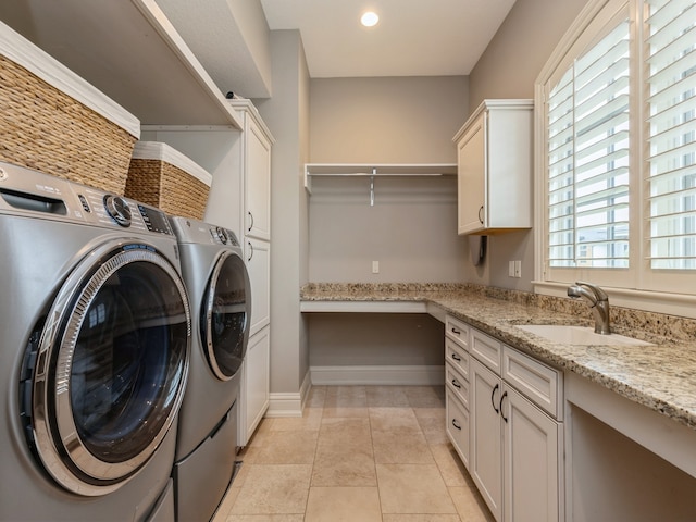
<svg viewBox="0 0 696 522">
<path fill-rule="evenodd" d="M 270 401 L 271 340 L 270 326 L 249 337 L 247 356 L 244 361 L 239 427 L 239 446 L 246 446 L 261 422 Z"/>
</svg>

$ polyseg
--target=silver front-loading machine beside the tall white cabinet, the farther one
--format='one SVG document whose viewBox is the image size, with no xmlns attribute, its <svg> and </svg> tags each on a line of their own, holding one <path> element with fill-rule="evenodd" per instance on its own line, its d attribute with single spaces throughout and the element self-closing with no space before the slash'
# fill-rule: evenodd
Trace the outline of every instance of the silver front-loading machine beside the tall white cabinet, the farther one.
<svg viewBox="0 0 696 522">
<path fill-rule="evenodd" d="M 191 362 L 173 475 L 176 519 L 199 522 L 213 517 L 234 478 L 251 291 L 232 231 L 186 217 L 170 223 L 191 300 Z"/>
</svg>

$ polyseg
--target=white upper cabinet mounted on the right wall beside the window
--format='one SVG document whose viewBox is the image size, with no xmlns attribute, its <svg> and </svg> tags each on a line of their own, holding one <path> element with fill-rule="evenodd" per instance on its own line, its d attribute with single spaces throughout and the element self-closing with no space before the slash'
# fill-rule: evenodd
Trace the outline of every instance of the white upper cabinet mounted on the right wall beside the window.
<svg viewBox="0 0 696 522">
<path fill-rule="evenodd" d="M 532 227 L 532 100 L 484 100 L 457 133 L 458 233 Z"/>
</svg>

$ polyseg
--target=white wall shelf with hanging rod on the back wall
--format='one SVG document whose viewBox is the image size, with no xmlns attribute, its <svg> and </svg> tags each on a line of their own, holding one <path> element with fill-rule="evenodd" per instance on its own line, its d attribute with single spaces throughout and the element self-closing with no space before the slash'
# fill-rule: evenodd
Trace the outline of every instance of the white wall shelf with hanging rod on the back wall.
<svg viewBox="0 0 696 522">
<path fill-rule="evenodd" d="M 456 163 L 306 163 L 304 188 L 312 194 L 312 178 L 369 178 L 370 204 L 374 206 L 374 179 L 380 177 L 456 176 Z"/>
</svg>

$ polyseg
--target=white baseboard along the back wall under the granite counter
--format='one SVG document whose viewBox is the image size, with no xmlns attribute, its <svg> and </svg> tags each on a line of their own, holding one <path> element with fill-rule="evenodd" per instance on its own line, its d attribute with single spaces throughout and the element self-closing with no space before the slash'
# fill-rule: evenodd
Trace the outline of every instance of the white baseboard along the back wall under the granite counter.
<svg viewBox="0 0 696 522">
<path fill-rule="evenodd" d="M 445 384 L 445 366 L 311 366 L 312 385 Z"/>
</svg>

